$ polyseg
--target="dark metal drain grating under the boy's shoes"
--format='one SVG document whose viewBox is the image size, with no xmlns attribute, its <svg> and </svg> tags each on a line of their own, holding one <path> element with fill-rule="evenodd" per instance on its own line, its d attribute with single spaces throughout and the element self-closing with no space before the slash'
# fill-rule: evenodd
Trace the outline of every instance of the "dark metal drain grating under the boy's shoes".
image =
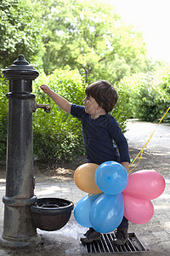
<svg viewBox="0 0 170 256">
<path fill-rule="evenodd" d="M 113 245 L 114 238 L 114 233 L 102 234 L 99 241 L 80 243 L 82 254 L 141 253 L 147 251 L 142 241 L 134 233 L 128 233 L 128 240 L 123 246 Z"/>
</svg>

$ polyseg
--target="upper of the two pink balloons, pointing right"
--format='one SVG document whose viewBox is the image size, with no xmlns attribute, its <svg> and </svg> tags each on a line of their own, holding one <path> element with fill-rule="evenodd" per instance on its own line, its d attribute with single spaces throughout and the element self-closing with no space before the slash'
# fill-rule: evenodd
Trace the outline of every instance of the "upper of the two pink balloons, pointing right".
<svg viewBox="0 0 170 256">
<path fill-rule="evenodd" d="M 165 189 L 165 179 L 160 173 L 150 170 L 141 170 L 128 176 L 126 189 L 123 195 L 151 200 L 160 196 Z"/>
</svg>

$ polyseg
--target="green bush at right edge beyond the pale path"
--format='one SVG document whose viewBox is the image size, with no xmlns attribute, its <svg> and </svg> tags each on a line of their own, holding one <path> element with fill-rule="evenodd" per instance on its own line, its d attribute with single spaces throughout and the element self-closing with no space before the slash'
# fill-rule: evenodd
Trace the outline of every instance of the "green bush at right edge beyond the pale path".
<svg viewBox="0 0 170 256">
<path fill-rule="evenodd" d="M 142 121 L 157 122 L 169 107 L 169 67 L 161 67 L 154 73 L 139 73 L 122 80 L 128 88 L 131 117 Z M 164 122 L 169 122 L 167 113 Z"/>
</svg>

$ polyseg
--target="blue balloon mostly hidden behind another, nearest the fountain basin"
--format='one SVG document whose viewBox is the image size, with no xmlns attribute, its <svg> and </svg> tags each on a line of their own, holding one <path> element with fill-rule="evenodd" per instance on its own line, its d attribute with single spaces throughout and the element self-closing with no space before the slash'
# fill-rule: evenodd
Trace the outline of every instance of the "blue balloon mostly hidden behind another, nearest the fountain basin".
<svg viewBox="0 0 170 256">
<path fill-rule="evenodd" d="M 80 201 L 77 202 L 77 205 L 74 209 L 74 217 L 78 224 L 83 227 L 92 227 L 92 224 L 89 219 L 89 212 L 94 201 L 101 195 L 99 193 L 97 195 L 86 195 L 82 197 Z"/>
</svg>

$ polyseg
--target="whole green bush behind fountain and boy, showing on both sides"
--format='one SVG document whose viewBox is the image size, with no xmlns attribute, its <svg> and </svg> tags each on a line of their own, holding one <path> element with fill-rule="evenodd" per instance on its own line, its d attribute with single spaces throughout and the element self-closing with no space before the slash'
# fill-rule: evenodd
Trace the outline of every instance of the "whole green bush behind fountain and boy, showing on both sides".
<svg viewBox="0 0 170 256">
<path fill-rule="evenodd" d="M 37 104 L 51 106 L 50 113 L 45 113 L 40 108 L 33 113 L 33 146 L 34 157 L 37 160 L 48 163 L 71 161 L 85 153 L 81 122 L 57 107 L 39 88 L 41 84 L 48 84 L 52 90 L 64 96 L 69 102 L 82 105 L 87 86 L 82 80 L 77 70 L 65 67 L 55 70 L 49 76 L 40 72 L 36 81 L 33 81 L 33 93 L 36 95 Z M 0 160 L 4 160 L 8 122 L 8 100 L 5 95 L 8 92 L 8 81 L 1 77 L 0 85 Z M 125 131 L 129 114 L 128 94 L 121 84 L 116 85 L 116 90 L 119 94 L 119 101 L 111 114 L 116 117 L 122 130 Z"/>
</svg>

